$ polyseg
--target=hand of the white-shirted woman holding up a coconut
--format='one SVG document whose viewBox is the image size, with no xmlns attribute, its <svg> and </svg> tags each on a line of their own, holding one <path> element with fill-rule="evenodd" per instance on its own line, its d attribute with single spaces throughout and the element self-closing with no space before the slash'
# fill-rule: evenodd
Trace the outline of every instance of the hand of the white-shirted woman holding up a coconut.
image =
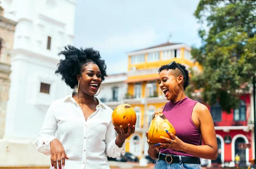
<svg viewBox="0 0 256 169">
<path fill-rule="evenodd" d="M 135 131 L 135 126 L 131 125 L 131 124 L 128 124 L 128 131 L 127 133 L 124 132 L 124 129 L 123 129 L 123 126 L 120 126 L 120 131 L 114 127 L 114 129 L 116 130 L 117 132 L 117 137 L 116 137 L 116 145 L 118 147 L 121 147 L 125 141 L 125 139 L 127 139 L 132 133 L 134 133 Z M 119 146 L 121 144 L 121 146 Z"/>
</svg>

